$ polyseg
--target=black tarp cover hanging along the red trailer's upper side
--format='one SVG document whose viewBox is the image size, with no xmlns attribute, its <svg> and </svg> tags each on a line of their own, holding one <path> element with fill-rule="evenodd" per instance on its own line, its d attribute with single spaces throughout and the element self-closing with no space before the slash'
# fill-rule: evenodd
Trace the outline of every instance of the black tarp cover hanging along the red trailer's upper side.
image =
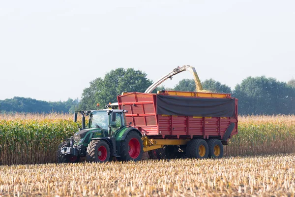
<svg viewBox="0 0 295 197">
<path fill-rule="evenodd" d="M 207 99 L 157 95 L 157 114 L 235 117 L 235 99 Z"/>
</svg>

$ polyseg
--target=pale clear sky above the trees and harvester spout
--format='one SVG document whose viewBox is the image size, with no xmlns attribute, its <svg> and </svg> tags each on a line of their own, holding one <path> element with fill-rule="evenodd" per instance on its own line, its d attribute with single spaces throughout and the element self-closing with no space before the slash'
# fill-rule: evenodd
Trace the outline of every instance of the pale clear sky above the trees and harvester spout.
<svg viewBox="0 0 295 197">
<path fill-rule="evenodd" d="M 81 98 L 111 69 L 295 77 L 295 0 L 1 0 L 0 99 Z M 189 72 L 165 82 L 174 87 Z"/>
</svg>

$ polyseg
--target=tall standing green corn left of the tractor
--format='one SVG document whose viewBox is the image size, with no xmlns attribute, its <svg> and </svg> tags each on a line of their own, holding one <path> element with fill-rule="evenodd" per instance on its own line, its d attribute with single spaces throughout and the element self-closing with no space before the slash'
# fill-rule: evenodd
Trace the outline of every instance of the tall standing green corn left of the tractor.
<svg viewBox="0 0 295 197">
<path fill-rule="evenodd" d="M 2 164 L 56 162 L 60 140 L 75 131 L 77 125 L 71 120 L 1 120 L 0 161 Z"/>
</svg>

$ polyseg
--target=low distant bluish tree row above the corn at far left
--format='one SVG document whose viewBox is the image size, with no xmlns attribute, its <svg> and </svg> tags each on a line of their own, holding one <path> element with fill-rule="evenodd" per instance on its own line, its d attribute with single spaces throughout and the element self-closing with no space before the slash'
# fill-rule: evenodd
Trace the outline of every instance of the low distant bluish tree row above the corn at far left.
<svg viewBox="0 0 295 197">
<path fill-rule="evenodd" d="M 68 99 L 67 101 L 47 102 L 31 98 L 14 97 L 13 99 L 0 100 L 0 111 L 7 112 L 30 112 L 49 113 L 72 112 L 78 106 L 78 99 Z"/>
</svg>

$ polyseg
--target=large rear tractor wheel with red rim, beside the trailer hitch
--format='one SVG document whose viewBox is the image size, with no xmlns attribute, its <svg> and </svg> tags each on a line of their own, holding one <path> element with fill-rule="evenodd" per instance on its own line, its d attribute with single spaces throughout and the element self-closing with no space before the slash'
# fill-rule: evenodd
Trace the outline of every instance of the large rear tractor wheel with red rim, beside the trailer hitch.
<svg viewBox="0 0 295 197">
<path fill-rule="evenodd" d="M 144 153 L 144 144 L 141 135 L 136 131 L 128 132 L 126 138 L 121 141 L 121 161 L 139 161 Z"/>
</svg>

